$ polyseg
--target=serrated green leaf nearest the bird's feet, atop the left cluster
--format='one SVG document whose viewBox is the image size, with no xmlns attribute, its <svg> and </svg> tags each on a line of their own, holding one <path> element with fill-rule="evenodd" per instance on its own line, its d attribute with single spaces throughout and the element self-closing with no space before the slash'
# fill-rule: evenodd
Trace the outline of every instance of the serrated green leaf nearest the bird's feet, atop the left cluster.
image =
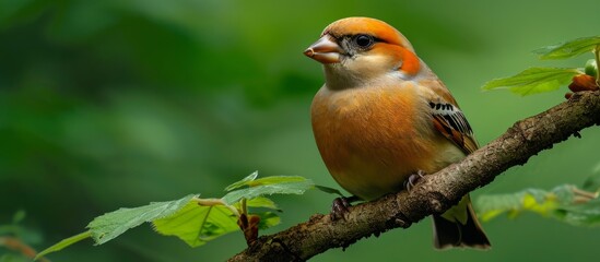
<svg viewBox="0 0 600 262">
<path fill-rule="evenodd" d="M 303 194 L 306 190 L 311 189 L 315 183 L 310 179 L 303 177 L 268 177 L 257 179 L 258 186 L 232 191 L 222 200 L 227 204 L 245 199 L 254 199 L 267 194 Z"/>
</svg>

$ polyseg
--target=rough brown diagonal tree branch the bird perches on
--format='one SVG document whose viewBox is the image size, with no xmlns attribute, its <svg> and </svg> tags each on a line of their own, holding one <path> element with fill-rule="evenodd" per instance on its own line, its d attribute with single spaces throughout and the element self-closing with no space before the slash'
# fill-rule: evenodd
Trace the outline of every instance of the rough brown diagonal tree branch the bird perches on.
<svg viewBox="0 0 600 262">
<path fill-rule="evenodd" d="M 460 163 L 425 176 L 410 193 L 401 191 L 352 206 L 345 221 L 332 222 L 329 215 L 313 215 L 308 222 L 260 237 L 230 261 L 305 261 L 370 235 L 408 228 L 425 216 L 443 213 L 462 195 L 490 183 L 509 167 L 525 164 L 532 155 L 572 134 L 578 136 L 578 131 L 593 124 L 600 126 L 600 92 L 576 93 L 567 102 L 516 122 Z"/>
</svg>

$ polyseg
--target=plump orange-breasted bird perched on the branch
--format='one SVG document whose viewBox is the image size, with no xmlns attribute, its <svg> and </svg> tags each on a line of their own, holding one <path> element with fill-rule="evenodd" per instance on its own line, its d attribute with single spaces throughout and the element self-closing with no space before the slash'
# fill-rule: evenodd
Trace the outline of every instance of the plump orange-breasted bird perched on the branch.
<svg viewBox="0 0 600 262">
<path fill-rule="evenodd" d="M 388 23 L 338 20 L 304 55 L 325 73 L 310 106 L 317 147 L 354 198 L 403 190 L 479 147 L 450 91 Z M 433 221 L 436 249 L 491 247 L 468 194 Z"/>
</svg>

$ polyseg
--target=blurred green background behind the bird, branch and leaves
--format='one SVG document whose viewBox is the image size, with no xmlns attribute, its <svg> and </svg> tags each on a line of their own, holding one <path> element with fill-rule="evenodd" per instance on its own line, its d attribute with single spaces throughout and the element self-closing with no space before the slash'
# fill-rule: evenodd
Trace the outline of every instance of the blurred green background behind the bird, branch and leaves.
<svg viewBox="0 0 600 262">
<path fill-rule="evenodd" d="M 597 0 L 570 1 L 0 1 L 0 225 L 24 210 L 36 249 L 93 217 L 188 193 L 221 196 L 254 170 L 338 187 L 313 141 L 308 108 L 322 84 L 302 51 L 330 22 L 387 21 L 460 102 L 481 144 L 564 100 L 479 87 L 538 61 L 540 46 L 598 35 Z M 600 172 L 600 129 L 581 132 L 473 193 L 581 183 Z M 596 150 L 596 151 L 595 151 Z M 275 233 L 327 213 L 332 195 L 277 196 Z M 489 252 L 432 249 L 431 221 L 314 261 L 595 261 L 599 229 L 523 215 L 484 224 Z M 223 261 L 242 234 L 190 249 L 144 225 L 54 261 Z M 0 255 L 8 252 L 0 248 Z"/>
</svg>

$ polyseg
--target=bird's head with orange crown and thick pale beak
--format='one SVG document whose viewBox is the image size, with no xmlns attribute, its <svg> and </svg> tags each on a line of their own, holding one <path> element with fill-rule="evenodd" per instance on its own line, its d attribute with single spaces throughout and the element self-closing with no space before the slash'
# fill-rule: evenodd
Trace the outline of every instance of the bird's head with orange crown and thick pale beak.
<svg viewBox="0 0 600 262">
<path fill-rule="evenodd" d="M 410 79 L 422 68 L 400 32 L 369 17 L 333 22 L 304 55 L 323 64 L 327 86 L 333 90 L 364 86 L 386 76 Z"/>
</svg>

